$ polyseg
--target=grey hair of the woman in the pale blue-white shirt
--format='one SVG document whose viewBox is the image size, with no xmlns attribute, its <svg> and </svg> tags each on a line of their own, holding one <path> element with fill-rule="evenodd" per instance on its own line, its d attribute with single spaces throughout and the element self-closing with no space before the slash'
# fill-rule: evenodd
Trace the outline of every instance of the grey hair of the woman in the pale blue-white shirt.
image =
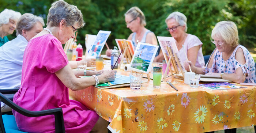
<svg viewBox="0 0 256 133">
<path fill-rule="evenodd" d="M 22 35 L 22 30 L 31 30 L 37 22 L 40 22 L 43 26 L 45 25 L 42 17 L 35 16 L 30 13 L 23 14 L 17 22 L 16 35 Z"/>
</svg>

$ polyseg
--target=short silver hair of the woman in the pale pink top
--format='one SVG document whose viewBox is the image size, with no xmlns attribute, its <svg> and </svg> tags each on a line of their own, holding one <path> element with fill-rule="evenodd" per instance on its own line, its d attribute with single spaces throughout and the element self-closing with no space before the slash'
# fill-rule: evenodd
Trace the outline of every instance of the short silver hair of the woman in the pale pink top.
<svg viewBox="0 0 256 133">
<path fill-rule="evenodd" d="M 188 27 L 187 27 L 187 17 L 182 14 L 181 12 L 173 12 L 171 13 L 166 19 L 165 23 L 167 24 L 167 21 L 169 19 L 175 19 L 176 22 L 178 22 L 181 26 L 185 26 L 185 32 L 187 32 Z"/>
</svg>

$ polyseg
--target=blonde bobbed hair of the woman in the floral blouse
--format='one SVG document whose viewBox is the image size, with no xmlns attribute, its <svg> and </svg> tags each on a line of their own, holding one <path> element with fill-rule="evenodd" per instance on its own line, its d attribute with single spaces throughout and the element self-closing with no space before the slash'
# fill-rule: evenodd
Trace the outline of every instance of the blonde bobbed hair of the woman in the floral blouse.
<svg viewBox="0 0 256 133">
<path fill-rule="evenodd" d="M 221 21 L 215 25 L 211 32 L 211 38 L 220 36 L 227 44 L 235 47 L 238 45 L 239 37 L 237 26 L 232 21 Z"/>
</svg>

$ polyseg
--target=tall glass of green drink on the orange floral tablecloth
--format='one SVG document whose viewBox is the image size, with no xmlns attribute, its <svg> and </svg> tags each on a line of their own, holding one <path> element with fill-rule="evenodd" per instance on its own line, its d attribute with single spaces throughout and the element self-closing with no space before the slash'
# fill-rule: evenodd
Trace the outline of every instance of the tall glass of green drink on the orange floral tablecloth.
<svg viewBox="0 0 256 133">
<path fill-rule="evenodd" d="M 160 88 L 162 79 L 162 68 L 153 67 L 153 86 L 154 88 Z"/>
</svg>

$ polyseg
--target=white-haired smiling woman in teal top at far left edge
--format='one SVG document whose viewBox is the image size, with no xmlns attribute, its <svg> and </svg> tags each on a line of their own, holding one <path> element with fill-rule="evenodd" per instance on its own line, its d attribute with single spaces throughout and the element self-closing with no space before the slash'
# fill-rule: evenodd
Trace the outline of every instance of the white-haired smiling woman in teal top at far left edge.
<svg viewBox="0 0 256 133">
<path fill-rule="evenodd" d="M 21 14 L 19 12 L 15 12 L 11 9 L 4 9 L 4 11 L 0 13 L 0 47 L 3 46 L 5 42 L 9 41 L 7 35 L 14 32 L 20 16 Z"/>
</svg>

